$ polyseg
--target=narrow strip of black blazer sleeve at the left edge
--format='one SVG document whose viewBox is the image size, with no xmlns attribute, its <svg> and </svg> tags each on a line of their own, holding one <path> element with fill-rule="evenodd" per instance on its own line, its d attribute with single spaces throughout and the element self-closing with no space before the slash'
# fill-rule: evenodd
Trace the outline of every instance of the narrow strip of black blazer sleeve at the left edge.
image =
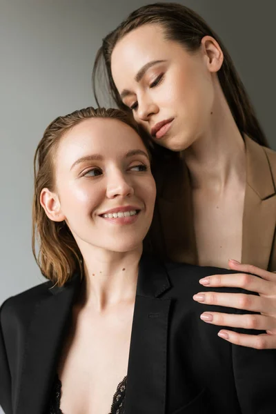
<svg viewBox="0 0 276 414">
<path fill-rule="evenodd" d="M 12 414 L 11 375 L 3 333 L 3 327 L 5 326 L 4 306 L 6 302 L 0 308 L 0 406 L 3 408 L 4 413 Z"/>
</svg>

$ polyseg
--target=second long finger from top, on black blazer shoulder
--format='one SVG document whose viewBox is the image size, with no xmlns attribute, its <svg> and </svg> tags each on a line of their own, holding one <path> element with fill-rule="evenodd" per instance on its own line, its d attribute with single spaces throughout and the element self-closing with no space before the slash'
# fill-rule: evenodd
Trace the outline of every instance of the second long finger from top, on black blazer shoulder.
<svg viewBox="0 0 276 414">
<path fill-rule="evenodd" d="M 275 300 L 269 297 L 245 295 L 244 293 L 200 292 L 193 296 L 196 302 L 207 305 L 226 306 L 246 311 L 275 314 Z"/>
</svg>

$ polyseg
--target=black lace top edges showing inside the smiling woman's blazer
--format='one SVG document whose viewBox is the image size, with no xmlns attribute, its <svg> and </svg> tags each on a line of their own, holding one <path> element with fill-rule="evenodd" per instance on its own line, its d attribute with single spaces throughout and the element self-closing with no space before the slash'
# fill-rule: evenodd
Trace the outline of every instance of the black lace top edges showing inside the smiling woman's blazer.
<svg viewBox="0 0 276 414">
<path fill-rule="evenodd" d="M 117 391 L 113 397 L 112 406 L 110 409 L 109 414 L 124 414 L 124 405 L 125 405 L 125 397 L 126 397 L 126 380 L 127 378 L 124 377 L 119 385 L 117 386 Z M 61 409 L 59 408 L 61 404 L 61 381 L 59 377 L 56 375 L 55 377 L 55 384 L 52 389 L 52 395 L 50 399 L 50 411 L 49 414 L 63 414 Z"/>
</svg>

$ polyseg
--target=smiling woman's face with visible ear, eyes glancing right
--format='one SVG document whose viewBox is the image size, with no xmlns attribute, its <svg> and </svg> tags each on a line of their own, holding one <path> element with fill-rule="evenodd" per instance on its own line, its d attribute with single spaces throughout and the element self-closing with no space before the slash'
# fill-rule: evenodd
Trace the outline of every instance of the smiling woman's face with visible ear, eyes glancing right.
<svg viewBox="0 0 276 414">
<path fill-rule="evenodd" d="M 66 220 L 81 253 L 141 247 L 155 204 L 155 181 L 143 141 L 117 119 L 90 118 L 66 132 L 55 155 L 55 192 L 41 204 Z"/>
</svg>

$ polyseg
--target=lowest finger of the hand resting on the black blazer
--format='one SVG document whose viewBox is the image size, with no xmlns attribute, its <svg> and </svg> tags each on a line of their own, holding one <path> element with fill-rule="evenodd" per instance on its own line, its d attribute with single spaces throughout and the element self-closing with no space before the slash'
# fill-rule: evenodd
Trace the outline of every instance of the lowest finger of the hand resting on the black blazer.
<svg viewBox="0 0 276 414">
<path fill-rule="evenodd" d="M 268 335 L 267 333 L 262 333 L 260 335 L 246 335 L 244 333 L 221 330 L 217 335 L 235 345 L 247 346 L 255 349 L 276 348 L 276 335 Z"/>
</svg>

